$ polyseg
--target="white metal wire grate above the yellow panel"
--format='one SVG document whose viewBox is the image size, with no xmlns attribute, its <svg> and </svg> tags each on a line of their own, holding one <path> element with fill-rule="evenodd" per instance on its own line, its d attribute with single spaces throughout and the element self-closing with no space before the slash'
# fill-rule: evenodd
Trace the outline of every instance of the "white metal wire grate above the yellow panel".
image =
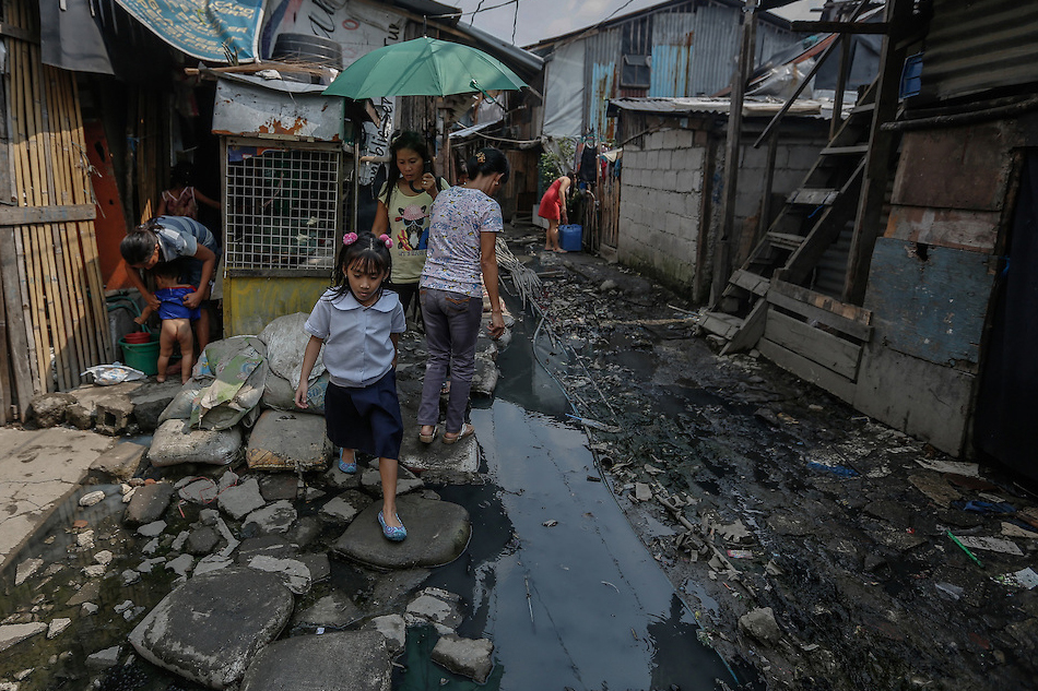
<svg viewBox="0 0 1038 691">
<path fill-rule="evenodd" d="M 330 269 L 339 234 L 337 151 L 228 144 L 228 269 Z"/>
</svg>

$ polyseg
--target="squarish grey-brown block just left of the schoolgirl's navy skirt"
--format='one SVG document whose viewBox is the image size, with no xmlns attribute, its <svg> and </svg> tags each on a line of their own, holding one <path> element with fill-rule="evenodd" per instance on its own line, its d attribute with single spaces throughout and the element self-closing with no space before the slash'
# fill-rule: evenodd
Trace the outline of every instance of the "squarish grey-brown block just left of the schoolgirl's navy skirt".
<svg viewBox="0 0 1038 691">
<path fill-rule="evenodd" d="M 264 410 L 245 453 L 249 469 L 323 470 L 332 445 L 325 433 L 325 418 L 309 413 Z"/>
</svg>

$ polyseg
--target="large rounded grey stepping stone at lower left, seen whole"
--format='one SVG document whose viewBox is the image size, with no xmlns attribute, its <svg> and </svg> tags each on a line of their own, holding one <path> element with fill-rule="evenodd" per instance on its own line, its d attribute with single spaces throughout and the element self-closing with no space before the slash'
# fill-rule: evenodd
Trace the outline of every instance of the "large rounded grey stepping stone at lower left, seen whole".
<svg viewBox="0 0 1038 691">
<path fill-rule="evenodd" d="M 150 663 L 204 687 L 226 689 L 278 638 L 293 606 L 278 574 L 221 569 L 166 595 L 129 640 Z"/>
</svg>

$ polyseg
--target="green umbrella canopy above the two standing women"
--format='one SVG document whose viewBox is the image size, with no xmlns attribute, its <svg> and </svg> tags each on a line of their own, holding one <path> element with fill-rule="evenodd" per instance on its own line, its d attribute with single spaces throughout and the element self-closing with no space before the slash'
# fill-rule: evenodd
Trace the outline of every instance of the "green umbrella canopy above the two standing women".
<svg viewBox="0 0 1038 691">
<path fill-rule="evenodd" d="M 423 36 L 373 50 L 335 78 L 326 96 L 448 96 L 526 86 L 482 50 Z"/>
</svg>

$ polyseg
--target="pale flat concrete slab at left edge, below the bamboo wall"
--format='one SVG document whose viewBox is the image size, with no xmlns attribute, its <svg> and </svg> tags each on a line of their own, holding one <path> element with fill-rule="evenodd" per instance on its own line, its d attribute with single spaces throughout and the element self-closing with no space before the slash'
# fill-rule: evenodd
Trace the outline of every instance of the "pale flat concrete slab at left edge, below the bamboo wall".
<svg viewBox="0 0 1038 691">
<path fill-rule="evenodd" d="M 0 570 L 115 441 L 63 427 L 0 428 Z"/>
</svg>

